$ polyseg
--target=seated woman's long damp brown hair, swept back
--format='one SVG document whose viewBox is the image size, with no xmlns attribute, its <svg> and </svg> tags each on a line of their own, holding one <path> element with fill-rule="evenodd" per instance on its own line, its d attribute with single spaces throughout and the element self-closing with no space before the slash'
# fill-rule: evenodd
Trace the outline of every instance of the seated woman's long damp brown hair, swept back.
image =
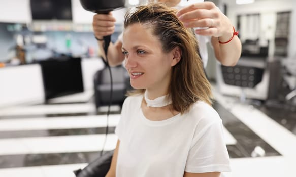
<svg viewBox="0 0 296 177">
<path fill-rule="evenodd" d="M 181 60 L 172 67 L 168 92 L 173 109 L 184 113 L 198 100 L 211 105 L 212 92 L 198 54 L 198 41 L 190 29 L 179 21 L 176 12 L 176 9 L 160 3 L 141 5 L 125 14 L 124 28 L 140 23 L 152 29 L 152 33 L 162 44 L 163 52 L 170 52 L 175 47 L 181 49 Z M 131 95 L 144 91 L 136 90 Z"/>
</svg>

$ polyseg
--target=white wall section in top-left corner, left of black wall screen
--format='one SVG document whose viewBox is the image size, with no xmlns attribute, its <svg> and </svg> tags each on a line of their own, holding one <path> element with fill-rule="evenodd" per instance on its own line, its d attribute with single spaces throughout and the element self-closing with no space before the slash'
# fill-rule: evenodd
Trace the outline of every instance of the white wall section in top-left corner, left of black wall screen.
<svg viewBox="0 0 296 177">
<path fill-rule="evenodd" d="M 30 23 L 29 0 L 0 0 L 0 22 Z"/>
</svg>

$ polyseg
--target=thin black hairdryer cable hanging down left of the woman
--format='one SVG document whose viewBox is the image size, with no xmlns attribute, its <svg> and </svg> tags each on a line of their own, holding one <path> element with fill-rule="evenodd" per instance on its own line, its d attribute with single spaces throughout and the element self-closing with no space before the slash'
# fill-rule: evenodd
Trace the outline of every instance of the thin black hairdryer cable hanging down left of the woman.
<svg viewBox="0 0 296 177">
<path fill-rule="evenodd" d="M 105 52 L 105 57 L 106 57 L 106 62 L 104 61 L 104 63 L 106 64 L 108 70 L 109 70 L 109 74 L 110 74 L 110 100 L 109 100 L 109 105 L 108 105 L 108 110 L 107 110 L 107 126 L 106 126 L 106 132 L 105 132 L 105 140 L 103 143 L 103 147 L 100 153 L 100 156 L 103 155 L 104 152 L 104 147 L 106 145 L 106 141 L 107 141 L 107 136 L 108 136 L 108 131 L 109 131 L 109 115 L 110 115 L 110 108 L 111 108 L 111 104 L 112 104 L 112 93 L 113 93 L 113 79 L 112 79 L 112 72 L 111 72 L 111 67 L 109 65 L 108 62 L 108 57 L 107 57 L 107 53 L 108 53 L 108 47 L 111 41 L 111 36 L 104 36 L 104 52 Z"/>
</svg>

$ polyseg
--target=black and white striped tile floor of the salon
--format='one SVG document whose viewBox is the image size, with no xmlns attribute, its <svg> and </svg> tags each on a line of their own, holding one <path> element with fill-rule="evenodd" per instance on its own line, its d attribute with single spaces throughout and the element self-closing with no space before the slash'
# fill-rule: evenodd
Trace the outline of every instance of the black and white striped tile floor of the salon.
<svg viewBox="0 0 296 177">
<path fill-rule="evenodd" d="M 90 97 L 76 94 L 47 105 L 0 109 L 0 176 L 70 177 L 100 156 L 107 117 L 94 113 Z M 293 131 L 236 98 L 217 92 L 215 98 L 233 170 L 225 176 L 296 176 Z M 112 110 L 105 151 L 117 140 L 119 108 Z"/>
</svg>

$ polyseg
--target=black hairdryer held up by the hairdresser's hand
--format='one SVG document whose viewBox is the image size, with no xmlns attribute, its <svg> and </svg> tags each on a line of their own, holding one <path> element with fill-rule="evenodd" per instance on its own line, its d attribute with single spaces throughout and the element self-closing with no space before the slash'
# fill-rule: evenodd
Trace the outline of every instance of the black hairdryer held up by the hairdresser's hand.
<svg viewBox="0 0 296 177">
<path fill-rule="evenodd" d="M 125 0 L 80 0 L 80 3 L 87 11 L 98 14 L 108 14 L 110 11 L 124 7 Z M 111 35 L 104 36 L 104 52 L 106 57 L 110 41 Z"/>
</svg>

